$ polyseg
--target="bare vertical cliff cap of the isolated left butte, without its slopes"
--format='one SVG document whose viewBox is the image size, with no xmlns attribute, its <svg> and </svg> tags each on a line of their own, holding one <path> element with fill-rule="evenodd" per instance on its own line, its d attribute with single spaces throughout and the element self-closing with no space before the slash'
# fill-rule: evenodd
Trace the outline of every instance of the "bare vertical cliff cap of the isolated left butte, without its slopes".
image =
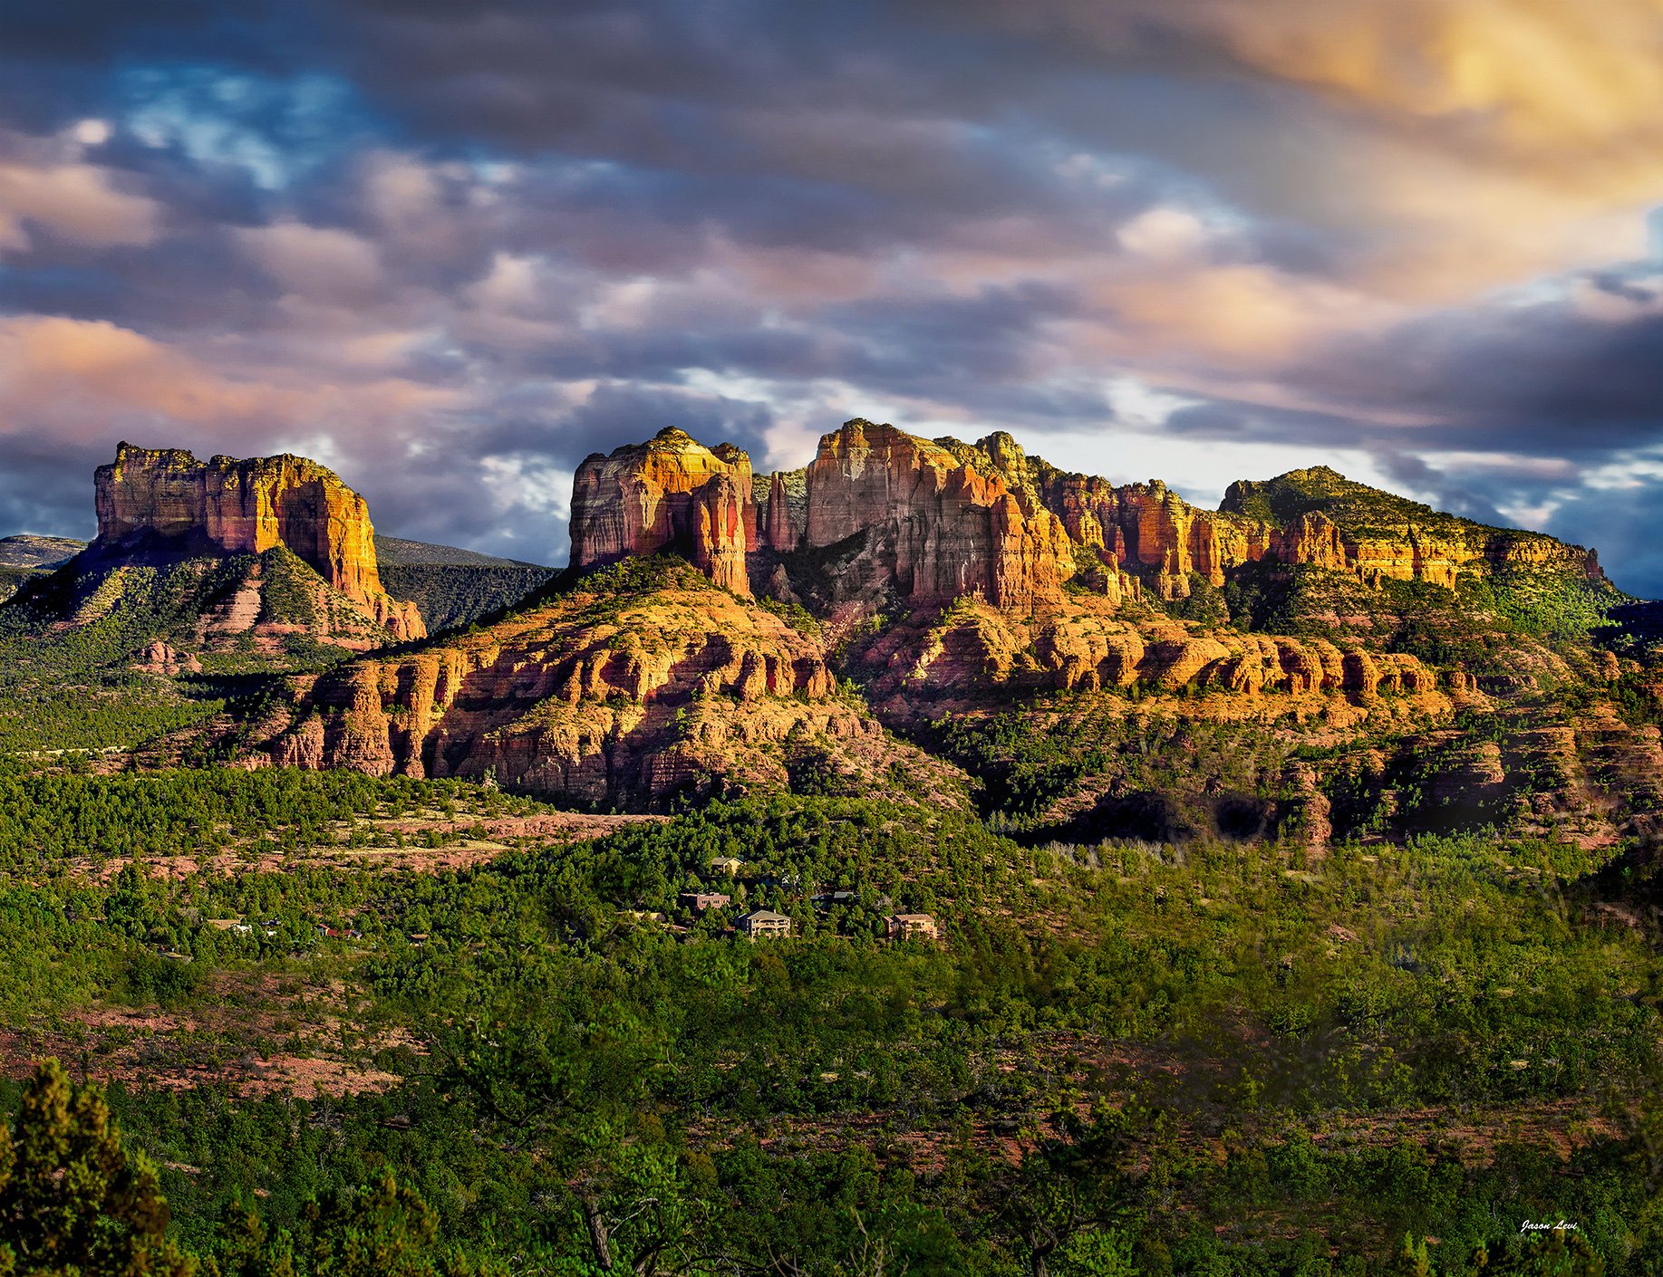
<svg viewBox="0 0 1663 1277">
<path fill-rule="evenodd" d="M 284 454 L 201 462 L 183 449 L 121 442 L 115 462 L 95 472 L 93 489 L 95 559 L 264 554 L 283 545 L 394 638 L 426 635 L 416 604 L 381 587 L 369 505 L 313 461 Z"/>
</svg>

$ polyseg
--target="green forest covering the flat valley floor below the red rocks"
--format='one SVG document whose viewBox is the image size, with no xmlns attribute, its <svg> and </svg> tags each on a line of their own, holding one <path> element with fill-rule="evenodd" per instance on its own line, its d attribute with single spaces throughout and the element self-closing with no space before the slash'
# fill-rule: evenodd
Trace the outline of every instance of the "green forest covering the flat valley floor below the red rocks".
<svg viewBox="0 0 1663 1277">
<path fill-rule="evenodd" d="M 1663 971 L 1600 906 L 1650 916 L 1633 858 L 1480 828 L 1295 868 L 792 795 L 484 838 L 539 815 L 459 781 L 0 767 L 7 1049 L 62 1061 L 0 1094 L 0 1262 L 1663 1264 Z M 752 908 L 793 934 L 737 938 Z M 895 911 L 945 943 L 891 941 Z M 284 1081 L 321 1064 L 363 1084 Z"/>
</svg>

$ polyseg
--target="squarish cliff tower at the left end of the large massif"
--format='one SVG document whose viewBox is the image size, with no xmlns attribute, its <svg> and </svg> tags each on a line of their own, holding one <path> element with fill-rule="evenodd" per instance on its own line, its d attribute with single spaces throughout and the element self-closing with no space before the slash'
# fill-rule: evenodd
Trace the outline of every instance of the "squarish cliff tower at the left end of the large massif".
<svg viewBox="0 0 1663 1277">
<path fill-rule="evenodd" d="M 610 456 L 595 452 L 572 484 L 572 565 L 672 547 L 722 589 L 748 597 L 745 552 L 757 535 L 750 486 L 743 451 L 708 449 L 674 427 Z"/>
</svg>

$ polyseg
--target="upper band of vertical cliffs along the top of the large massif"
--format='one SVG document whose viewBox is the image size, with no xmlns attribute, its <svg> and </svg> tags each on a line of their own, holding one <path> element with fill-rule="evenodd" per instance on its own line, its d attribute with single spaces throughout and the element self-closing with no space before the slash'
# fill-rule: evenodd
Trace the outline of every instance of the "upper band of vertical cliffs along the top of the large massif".
<svg viewBox="0 0 1663 1277">
<path fill-rule="evenodd" d="M 675 549 L 722 589 L 780 597 L 778 555 L 846 545 L 856 554 L 840 597 L 893 589 L 916 604 L 975 597 L 1013 612 L 1059 602 L 1071 579 L 1116 600 L 1142 590 L 1184 599 L 1194 579 L 1217 587 L 1231 569 L 1264 559 L 1369 584 L 1453 587 L 1473 559 L 1563 560 L 1603 575 L 1591 550 L 1397 499 L 1384 524 L 1379 514 L 1347 522 L 1320 509 L 1264 517 L 1277 486 L 1290 484 L 1369 492 L 1319 467 L 1234 484 L 1221 509 L 1202 510 L 1159 481 L 1116 487 L 1063 472 L 1004 432 L 930 441 L 858 417 L 823 436 L 805 469 L 753 482 L 743 451 L 665 429 L 577 467 L 572 564 Z"/>
</svg>

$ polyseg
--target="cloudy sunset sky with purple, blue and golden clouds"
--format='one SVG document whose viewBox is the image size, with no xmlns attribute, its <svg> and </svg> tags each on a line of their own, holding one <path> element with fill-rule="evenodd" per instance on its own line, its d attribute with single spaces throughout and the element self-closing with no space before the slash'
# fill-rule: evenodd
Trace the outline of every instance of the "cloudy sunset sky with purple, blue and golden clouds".
<svg viewBox="0 0 1663 1277">
<path fill-rule="evenodd" d="M 0 534 L 116 441 L 565 560 L 664 426 L 1327 464 L 1663 595 L 1663 0 L 0 7 Z"/>
</svg>

